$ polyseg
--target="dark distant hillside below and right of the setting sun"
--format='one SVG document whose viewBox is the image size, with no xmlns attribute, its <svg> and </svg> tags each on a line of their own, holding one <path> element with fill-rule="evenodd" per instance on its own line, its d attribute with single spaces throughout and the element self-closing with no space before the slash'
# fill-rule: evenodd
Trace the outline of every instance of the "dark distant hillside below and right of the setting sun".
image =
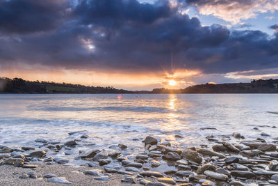
<svg viewBox="0 0 278 186">
<path fill-rule="evenodd" d="M 155 88 L 151 93 L 278 93 L 278 79 L 252 80 L 251 83 L 199 84 L 184 89 Z"/>
</svg>

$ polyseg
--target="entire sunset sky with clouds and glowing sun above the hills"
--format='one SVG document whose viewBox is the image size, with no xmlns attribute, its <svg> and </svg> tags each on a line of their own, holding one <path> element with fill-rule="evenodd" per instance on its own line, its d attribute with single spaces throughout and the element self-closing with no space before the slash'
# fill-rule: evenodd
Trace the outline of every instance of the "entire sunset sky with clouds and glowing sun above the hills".
<svg viewBox="0 0 278 186">
<path fill-rule="evenodd" d="M 0 77 L 129 90 L 278 78 L 278 0 L 0 0 Z"/>
</svg>

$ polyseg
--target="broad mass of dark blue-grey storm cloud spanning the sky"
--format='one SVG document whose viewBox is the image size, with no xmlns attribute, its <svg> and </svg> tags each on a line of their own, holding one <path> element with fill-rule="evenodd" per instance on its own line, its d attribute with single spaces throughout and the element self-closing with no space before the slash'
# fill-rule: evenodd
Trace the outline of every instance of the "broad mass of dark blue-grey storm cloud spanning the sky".
<svg viewBox="0 0 278 186">
<path fill-rule="evenodd" d="M 23 1 L 0 2 L 9 4 L 0 8 L 5 15 L 6 10 L 17 10 Z M 0 17 L 0 29 L 5 31 L 0 35 L 1 65 L 40 63 L 104 72 L 172 72 L 174 66 L 175 70 L 206 73 L 278 67 L 277 35 L 269 39 L 261 31 L 202 26 L 196 17 L 181 15 L 168 1 L 92 0 L 77 1 L 71 7 L 74 1 L 24 2 L 31 7 L 39 4 L 44 11 L 22 9 L 14 16 L 10 13 L 7 20 Z M 22 23 L 17 26 L 17 22 Z"/>
</svg>

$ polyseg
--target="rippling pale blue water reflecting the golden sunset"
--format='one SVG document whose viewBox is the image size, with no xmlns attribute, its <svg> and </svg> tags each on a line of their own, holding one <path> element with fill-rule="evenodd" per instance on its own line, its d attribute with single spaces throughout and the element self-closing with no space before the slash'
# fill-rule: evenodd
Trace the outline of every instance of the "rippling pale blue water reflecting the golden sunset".
<svg viewBox="0 0 278 186">
<path fill-rule="evenodd" d="M 275 94 L 0 95 L 0 145 L 39 146 L 35 139 L 63 143 L 88 134 L 75 152 L 126 144 L 129 155 L 142 150 L 149 134 L 178 147 L 232 132 L 250 139 L 265 132 L 271 140 L 278 137 L 277 102 Z"/>
</svg>

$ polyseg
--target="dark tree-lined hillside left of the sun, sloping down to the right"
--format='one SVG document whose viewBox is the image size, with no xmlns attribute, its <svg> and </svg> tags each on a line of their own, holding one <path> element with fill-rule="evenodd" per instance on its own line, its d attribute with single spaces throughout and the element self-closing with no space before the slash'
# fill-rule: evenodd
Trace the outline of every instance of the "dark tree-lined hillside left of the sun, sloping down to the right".
<svg viewBox="0 0 278 186">
<path fill-rule="evenodd" d="M 21 78 L 0 78 L 0 93 L 137 93 L 111 86 L 83 86 L 54 82 L 29 82 Z"/>
</svg>

